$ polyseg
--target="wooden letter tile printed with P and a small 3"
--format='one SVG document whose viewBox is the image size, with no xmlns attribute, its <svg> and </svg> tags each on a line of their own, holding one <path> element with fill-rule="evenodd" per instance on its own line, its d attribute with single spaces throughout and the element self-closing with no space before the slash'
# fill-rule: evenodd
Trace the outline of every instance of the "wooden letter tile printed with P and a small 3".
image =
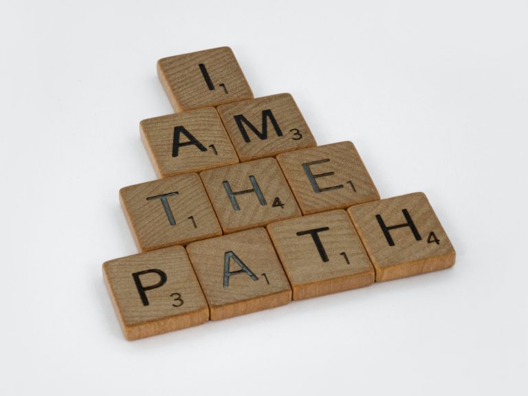
<svg viewBox="0 0 528 396">
<path fill-rule="evenodd" d="M 181 246 L 107 261 L 102 272 L 127 340 L 209 320 L 206 299 Z"/>
</svg>

